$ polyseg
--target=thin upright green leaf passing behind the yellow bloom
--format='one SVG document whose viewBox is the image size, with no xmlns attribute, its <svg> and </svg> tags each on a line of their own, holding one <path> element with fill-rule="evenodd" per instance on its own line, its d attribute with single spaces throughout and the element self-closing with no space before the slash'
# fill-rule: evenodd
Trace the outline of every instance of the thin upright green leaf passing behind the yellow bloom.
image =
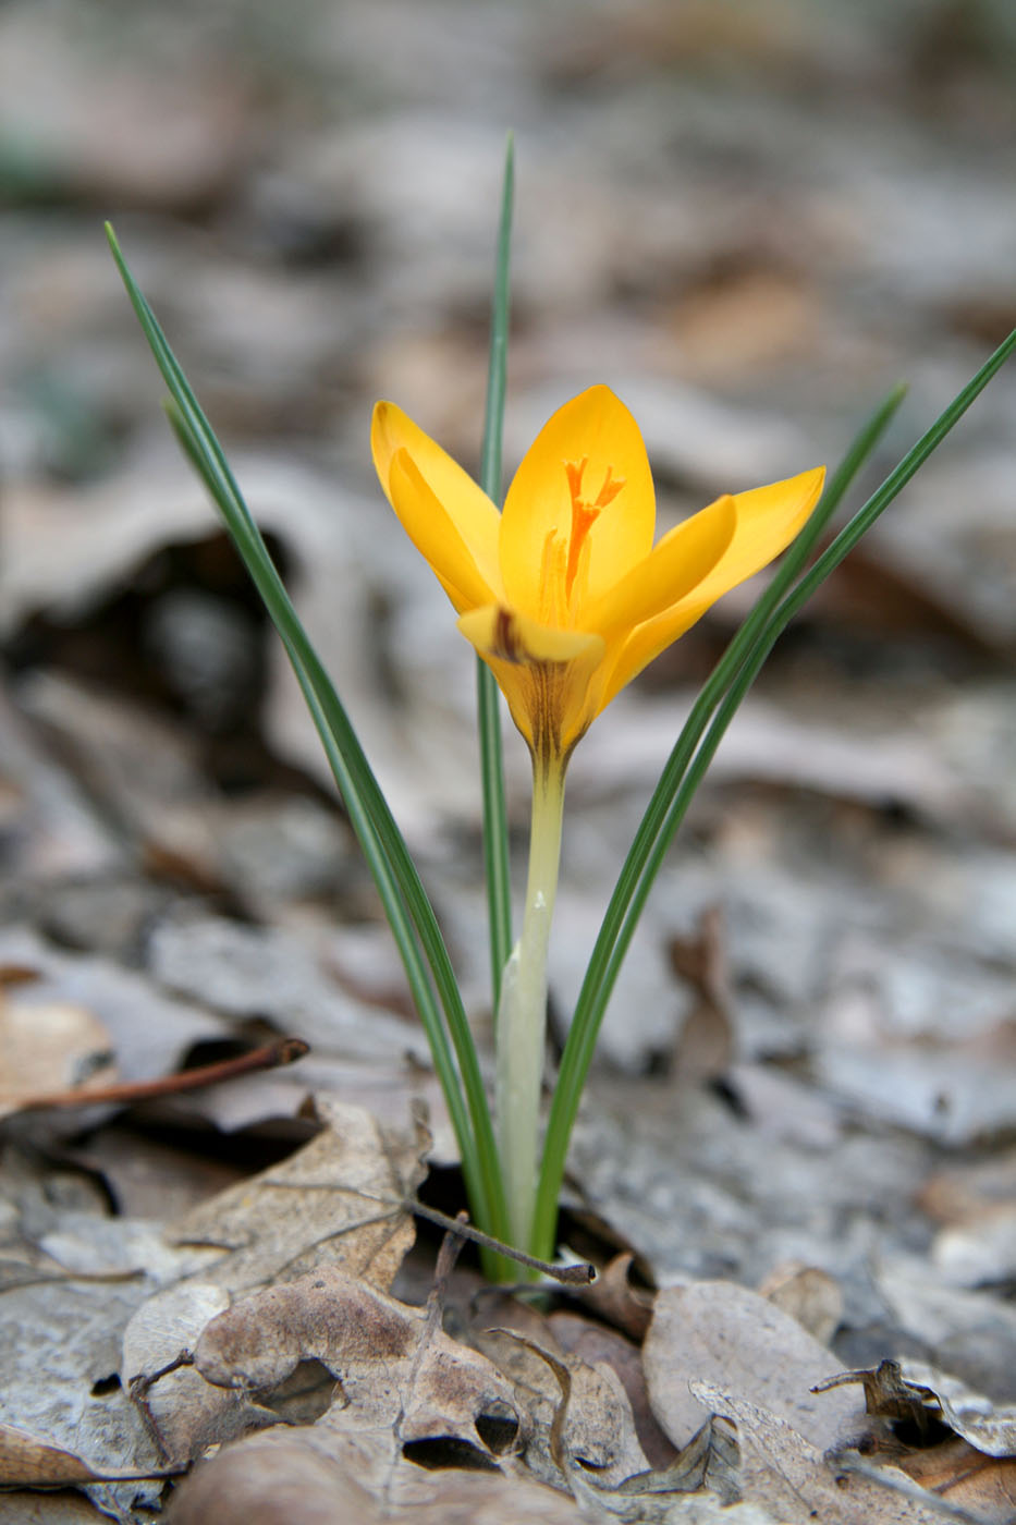
<svg viewBox="0 0 1016 1525">
<path fill-rule="evenodd" d="M 505 384 L 508 372 L 508 261 L 511 253 L 513 200 L 514 137 L 510 133 L 500 195 L 494 300 L 490 323 L 487 412 L 481 458 L 481 486 L 494 503 L 500 503 L 500 447 L 505 427 Z M 511 865 L 508 860 L 505 767 L 500 746 L 500 694 L 494 682 L 494 674 L 479 657 L 476 659 L 476 708 L 479 715 L 481 779 L 484 785 L 484 865 L 487 872 L 491 988 L 494 1013 L 497 1013 L 500 1003 L 500 978 L 511 953 Z"/>
</svg>

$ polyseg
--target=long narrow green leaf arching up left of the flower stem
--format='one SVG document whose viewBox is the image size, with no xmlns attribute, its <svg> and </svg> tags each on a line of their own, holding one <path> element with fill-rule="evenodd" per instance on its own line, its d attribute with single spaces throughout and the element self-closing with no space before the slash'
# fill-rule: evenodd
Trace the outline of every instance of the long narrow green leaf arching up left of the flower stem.
<svg viewBox="0 0 1016 1525">
<path fill-rule="evenodd" d="M 107 236 L 156 363 L 169 387 L 172 401 L 168 404 L 168 413 L 177 439 L 223 514 L 247 572 L 282 637 L 349 820 L 374 875 L 449 1104 L 476 1220 L 503 1238 L 506 1211 L 490 1109 L 462 997 L 433 909 L 345 708 L 290 602 L 253 515 L 236 486 L 223 448 L 131 276 L 108 224 Z"/>
</svg>

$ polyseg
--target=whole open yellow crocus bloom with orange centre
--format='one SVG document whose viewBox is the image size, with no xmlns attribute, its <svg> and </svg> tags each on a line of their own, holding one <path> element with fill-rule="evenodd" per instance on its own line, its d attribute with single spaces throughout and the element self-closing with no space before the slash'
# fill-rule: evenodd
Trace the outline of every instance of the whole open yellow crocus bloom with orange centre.
<svg viewBox="0 0 1016 1525">
<path fill-rule="evenodd" d="M 725 494 L 653 546 L 638 424 L 606 386 L 558 409 L 503 512 L 394 403 L 372 427 L 381 486 L 494 673 L 534 761 L 563 769 L 615 694 L 815 508 L 824 468 Z"/>
</svg>

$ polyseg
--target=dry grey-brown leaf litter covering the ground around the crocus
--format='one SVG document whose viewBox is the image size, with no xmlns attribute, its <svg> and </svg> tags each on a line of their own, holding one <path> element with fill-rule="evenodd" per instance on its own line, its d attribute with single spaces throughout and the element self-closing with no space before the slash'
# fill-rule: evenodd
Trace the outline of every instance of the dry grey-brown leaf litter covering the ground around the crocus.
<svg viewBox="0 0 1016 1525">
<path fill-rule="evenodd" d="M 0 47 L 5 137 L 44 127 L 5 212 L 0 962 L 37 976 L 5 994 L 40 1069 L 6 1048 L 0 1423 L 37 1447 L 24 1478 L 153 1481 L 17 1490 L 0 1520 L 136 1525 L 168 1504 L 244 1525 L 1011 1522 L 1011 381 L 783 644 L 661 878 L 572 1153 L 564 1235 L 595 1250 L 600 1283 L 554 1293 L 566 1310 L 481 1299 L 465 1316 L 456 1287 L 474 1281 L 450 1279 L 444 1337 L 484 1417 L 427 1388 L 426 1353 L 449 1353 L 406 1290 L 432 1278 L 423 1250 L 403 1258 L 413 1096 L 432 1162 L 455 1154 L 400 971 L 389 950 L 365 982 L 346 958 L 380 942 L 372 891 L 291 677 L 151 429 L 146 357 L 92 229 L 98 201 L 134 209 L 143 273 L 423 846 L 482 1028 L 468 660 L 381 534 L 362 419 L 398 395 L 456 456 L 474 450 L 505 114 L 525 116 L 528 156 L 508 454 L 607 354 L 676 522 L 731 474 L 783 474 L 805 441 L 831 458 L 857 398 L 899 375 L 917 418 L 1011 313 L 1004 8 L 903 18 L 838 0 L 804 24 L 761 0 L 734 20 L 638 0 L 581 26 L 567 6 L 459 8 L 450 26 L 447 8 L 352 0 L 340 24 L 307 6 L 279 49 L 241 6 L 226 73 L 186 8 L 124 14 L 114 55 L 101 8 L 78 0 L 72 24 L 66 9 L 8 8 Z M 168 133 L 150 87 L 177 66 L 186 124 Z M 802 69 L 821 107 L 786 88 Z M 467 78 L 476 99 L 459 101 Z M 963 133 L 941 128 L 958 117 Z M 558 1032 L 645 785 L 732 618 L 703 622 L 577 758 Z M 17 1107 L 107 1058 L 143 1083 L 288 1032 L 314 1054 L 287 1072 Z M 336 1125 L 330 1096 L 375 1122 Z M 296 1347 L 319 1354 L 285 1382 L 159 1376 L 252 1307 L 275 1328 L 258 1299 L 299 1301 L 307 1278 L 362 1313 L 383 1304 L 420 1380 L 392 1357 L 386 1386 L 334 1330 L 325 1348 L 313 1298 Z M 906 1418 L 860 1414 L 856 1382 L 812 1392 L 886 1360 Z M 468 1443 L 438 1459 L 497 1470 L 407 1459 L 394 1405 L 424 1446 Z M 165 1452 L 215 1447 L 168 1502 Z M 702 1481 L 719 1491 L 677 1490 Z"/>
</svg>

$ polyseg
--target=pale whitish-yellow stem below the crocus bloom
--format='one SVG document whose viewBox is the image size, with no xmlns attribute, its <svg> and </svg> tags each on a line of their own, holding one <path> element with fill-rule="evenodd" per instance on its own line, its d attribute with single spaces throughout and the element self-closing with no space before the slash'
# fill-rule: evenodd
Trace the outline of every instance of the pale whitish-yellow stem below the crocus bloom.
<svg viewBox="0 0 1016 1525">
<path fill-rule="evenodd" d="M 505 967 L 497 1011 L 497 1150 L 511 1238 L 529 1247 L 537 1188 L 540 1087 L 546 1048 L 546 953 L 561 857 L 564 767 L 534 758 L 529 877 L 522 936 Z"/>
</svg>

